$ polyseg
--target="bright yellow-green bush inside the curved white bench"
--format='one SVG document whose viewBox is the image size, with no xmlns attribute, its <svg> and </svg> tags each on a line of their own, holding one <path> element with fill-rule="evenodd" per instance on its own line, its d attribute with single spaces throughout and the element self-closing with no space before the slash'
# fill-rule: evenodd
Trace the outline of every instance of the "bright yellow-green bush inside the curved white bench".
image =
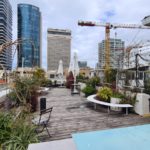
<svg viewBox="0 0 150 150">
<path fill-rule="evenodd" d="M 102 101 L 110 102 L 110 97 L 112 96 L 112 90 L 109 87 L 102 87 L 97 93 L 98 98 Z"/>
</svg>

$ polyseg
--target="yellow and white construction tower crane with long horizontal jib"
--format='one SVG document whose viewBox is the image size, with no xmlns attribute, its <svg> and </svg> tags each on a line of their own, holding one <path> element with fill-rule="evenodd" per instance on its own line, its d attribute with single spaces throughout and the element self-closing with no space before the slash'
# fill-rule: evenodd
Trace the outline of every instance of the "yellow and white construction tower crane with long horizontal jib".
<svg viewBox="0 0 150 150">
<path fill-rule="evenodd" d="M 92 21 L 78 21 L 80 26 L 99 26 L 105 27 L 105 70 L 110 69 L 110 29 L 125 28 L 125 29 L 150 29 L 148 26 L 139 24 L 118 24 L 118 23 L 101 23 Z"/>
</svg>

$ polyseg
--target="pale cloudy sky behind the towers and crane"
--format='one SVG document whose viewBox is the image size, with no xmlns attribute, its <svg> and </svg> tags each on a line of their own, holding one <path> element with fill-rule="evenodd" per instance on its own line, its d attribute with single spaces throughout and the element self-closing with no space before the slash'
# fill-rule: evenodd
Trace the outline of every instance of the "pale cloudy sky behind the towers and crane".
<svg viewBox="0 0 150 150">
<path fill-rule="evenodd" d="M 40 8 L 42 14 L 42 67 L 47 68 L 47 29 L 72 31 L 71 53 L 80 61 L 95 67 L 98 43 L 105 38 L 103 27 L 81 27 L 78 20 L 141 24 L 150 15 L 149 0 L 9 0 L 13 10 L 13 40 L 17 39 L 17 4 L 27 3 Z M 121 38 L 125 45 L 150 40 L 150 30 L 111 29 L 111 38 Z"/>
</svg>

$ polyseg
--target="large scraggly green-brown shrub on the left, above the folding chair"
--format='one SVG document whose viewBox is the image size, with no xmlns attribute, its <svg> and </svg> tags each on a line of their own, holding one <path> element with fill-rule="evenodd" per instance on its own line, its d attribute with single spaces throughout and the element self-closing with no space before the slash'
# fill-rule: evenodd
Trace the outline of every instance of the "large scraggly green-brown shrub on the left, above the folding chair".
<svg viewBox="0 0 150 150">
<path fill-rule="evenodd" d="M 15 101 L 19 106 L 29 106 L 37 96 L 36 91 L 40 83 L 33 77 L 15 77 L 11 85 L 11 93 L 8 95 L 10 100 Z"/>
</svg>

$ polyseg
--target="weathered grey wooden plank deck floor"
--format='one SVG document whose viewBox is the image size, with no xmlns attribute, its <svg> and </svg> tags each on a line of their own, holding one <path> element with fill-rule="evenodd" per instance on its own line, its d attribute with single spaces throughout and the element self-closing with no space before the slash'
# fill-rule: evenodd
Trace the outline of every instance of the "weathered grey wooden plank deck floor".
<svg viewBox="0 0 150 150">
<path fill-rule="evenodd" d="M 53 106 L 53 112 L 49 124 L 52 137 L 46 137 L 44 132 L 45 141 L 70 138 L 71 134 L 76 132 L 150 123 L 150 117 L 116 112 L 107 114 L 107 109 L 103 107 L 94 110 L 93 105 L 83 96 L 71 96 L 70 90 L 65 88 L 51 89 L 46 97 L 47 108 Z"/>
</svg>

